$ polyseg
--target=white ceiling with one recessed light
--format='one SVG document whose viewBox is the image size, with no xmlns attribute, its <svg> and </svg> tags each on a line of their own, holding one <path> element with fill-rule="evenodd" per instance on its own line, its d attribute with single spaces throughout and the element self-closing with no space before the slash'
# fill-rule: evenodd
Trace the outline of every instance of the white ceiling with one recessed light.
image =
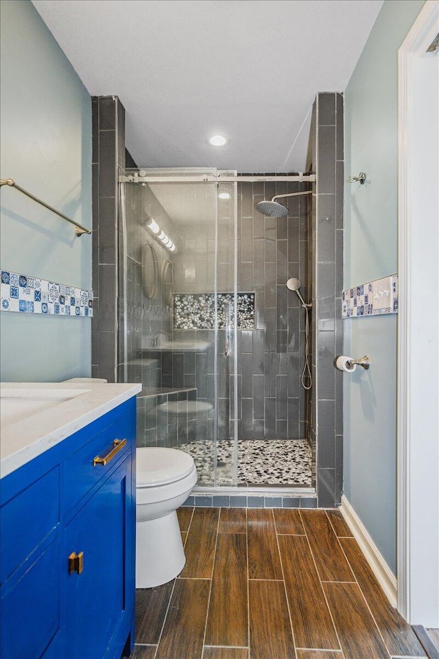
<svg viewBox="0 0 439 659">
<path fill-rule="evenodd" d="M 383 0 L 32 0 L 91 95 L 118 95 L 141 167 L 305 168 Z M 214 133 L 230 140 L 213 148 Z"/>
</svg>

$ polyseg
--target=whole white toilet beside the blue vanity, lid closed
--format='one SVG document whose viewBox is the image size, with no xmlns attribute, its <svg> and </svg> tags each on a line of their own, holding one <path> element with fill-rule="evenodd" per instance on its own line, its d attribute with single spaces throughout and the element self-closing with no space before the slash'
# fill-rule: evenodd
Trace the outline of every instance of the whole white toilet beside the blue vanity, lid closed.
<svg viewBox="0 0 439 659">
<path fill-rule="evenodd" d="M 176 510 L 191 494 L 197 470 L 175 448 L 137 448 L 136 460 L 136 588 L 153 588 L 185 566 Z"/>
</svg>

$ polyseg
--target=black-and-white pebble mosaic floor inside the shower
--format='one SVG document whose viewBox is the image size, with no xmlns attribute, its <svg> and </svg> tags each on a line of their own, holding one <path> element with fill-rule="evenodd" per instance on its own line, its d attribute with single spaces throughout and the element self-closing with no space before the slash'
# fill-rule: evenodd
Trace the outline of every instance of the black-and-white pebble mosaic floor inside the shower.
<svg viewBox="0 0 439 659">
<path fill-rule="evenodd" d="M 179 444 L 193 457 L 198 484 L 213 482 L 213 443 L 209 440 Z M 217 443 L 217 481 L 233 483 L 233 441 Z M 238 485 L 300 485 L 311 487 L 312 454 L 306 439 L 239 439 Z"/>
</svg>

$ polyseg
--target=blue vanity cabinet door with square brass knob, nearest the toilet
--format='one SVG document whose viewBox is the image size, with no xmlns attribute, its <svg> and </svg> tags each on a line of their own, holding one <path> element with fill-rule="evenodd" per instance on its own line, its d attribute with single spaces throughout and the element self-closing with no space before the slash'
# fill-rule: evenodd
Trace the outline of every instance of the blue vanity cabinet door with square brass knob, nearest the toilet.
<svg viewBox="0 0 439 659">
<path fill-rule="evenodd" d="M 131 458 L 112 472 L 64 532 L 63 659 L 103 659 L 126 612 L 126 539 Z M 71 553 L 83 552 L 80 574 L 68 573 Z"/>
</svg>

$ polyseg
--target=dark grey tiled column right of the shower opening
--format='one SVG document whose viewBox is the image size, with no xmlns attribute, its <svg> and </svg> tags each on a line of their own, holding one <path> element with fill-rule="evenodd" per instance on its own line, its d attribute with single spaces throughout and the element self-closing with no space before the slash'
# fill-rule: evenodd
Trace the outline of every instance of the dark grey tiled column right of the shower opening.
<svg viewBox="0 0 439 659">
<path fill-rule="evenodd" d="M 340 505 L 343 474 L 343 373 L 334 358 L 343 352 L 343 96 L 318 93 L 310 146 L 316 173 L 311 204 L 313 302 L 310 438 L 317 442 L 319 507 Z"/>
</svg>

